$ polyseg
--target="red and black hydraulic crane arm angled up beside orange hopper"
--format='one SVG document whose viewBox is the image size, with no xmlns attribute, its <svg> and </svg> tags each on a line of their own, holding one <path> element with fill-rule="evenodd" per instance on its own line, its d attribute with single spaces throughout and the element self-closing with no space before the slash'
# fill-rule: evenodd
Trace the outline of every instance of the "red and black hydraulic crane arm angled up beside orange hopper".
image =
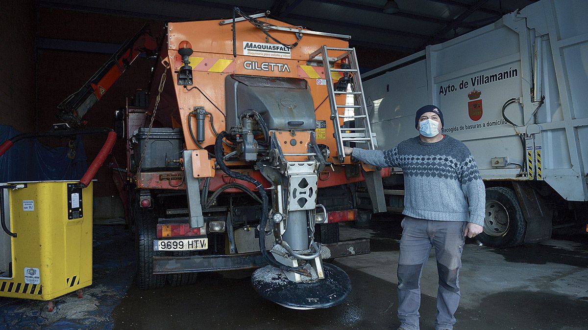
<svg viewBox="0 0 588 330">
<path fill-rule="evenodd" d="M 104 93 L 131 63 L 141 53 L 154 53 L 157 48 L 158 42 L 149 29 L 143 26 L 141 31 L 123 43 L 121 48 L 77 92 L 68 96 L 57 106 L 58 119 L 69 124 L 70 127 L 83 126 L 82 117 L 98 100 L 102 99 Z"/>
</svg>

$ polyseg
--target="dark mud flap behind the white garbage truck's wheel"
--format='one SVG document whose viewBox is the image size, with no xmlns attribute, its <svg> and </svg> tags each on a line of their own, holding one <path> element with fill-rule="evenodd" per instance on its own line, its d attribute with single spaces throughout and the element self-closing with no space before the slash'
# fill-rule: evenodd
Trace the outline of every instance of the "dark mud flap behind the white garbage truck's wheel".
<svg viewBox="0 0 588 330">
<path fill-rule="evenodd" d="M 543 196 L 537 194 L 526 182 L 513 181 L 513 187 L 527 222 L 524 243 L 536 243 L 551 238 L 553 211 L 544 203 Z"/>
</svg>

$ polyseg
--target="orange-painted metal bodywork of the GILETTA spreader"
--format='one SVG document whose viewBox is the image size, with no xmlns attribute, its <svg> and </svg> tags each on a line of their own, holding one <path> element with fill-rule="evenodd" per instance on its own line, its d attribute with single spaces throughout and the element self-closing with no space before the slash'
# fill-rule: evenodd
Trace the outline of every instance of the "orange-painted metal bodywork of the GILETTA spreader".
<svg viewBox="0 0 588 330">
<path fill-rule="evenodd" d="M 287 26 L 288 24 L 274 19 L 259 18 L 260 21 L 272 23 L 278 26 Z M 217 132 L 225 130 L 225 78 L 227 75 L 252 75 L 252 76 L 266 76 L 266 77 L 285 77 L 285 78 L 300 78 L 308 82 L 310 93 L 313 98 L 315 106 L 316 120 L 324 120 L 326 122 L 325 134 L 317 134 L 317 143 L 326 144 L 331 151 L 329 159 L 330 163 L 335 164 L 334 170 L 326 168 L 325 171 L 319 174 L 319 187 L 338 186 L 345 183 L 353 183 L 363 181 L 363 176 L 347 178 L 345 170 L 338 165 L 337 148 L 334 137 L 334 127 L 330 119 L 330 105 L 328 100 L 328 90 L 322 79 L 325 78 L 325 72 L 322 66 L 316 66 L 315 63 L 309 63 L 309 55 L 321 46 L 327 45 L 336 48 L 348 48 L 348 42 L 330 36 L 319 35 L 303 35 L 299 41 L 298 46 L 290 50 L 290 58 L 275 58 L 265 56 L 249 56 L 243 54 L 243 46 L 248 42 L 259 43 L 275 43 L 268 41 L 268 38 L 258 28 L 250 24 L 248 21 L 236 22 L 236 53 L 233 57 L 233 32 L 232 25 L 219 25 L 218 20 L 214 21 L 199 21 L 199 22 L 179 22 L 168 24 L 168 35 L 166 36 L 167 44 L 160 52 L 161 64 L 156 69 L 155 77 L 161 76 L 163 68 L 169 65 L 171 75 L 168 76 L 173 80 L 173 92 L 175 95 L 162 95 L 162 99 L 177 100 L 176 109 L 179 110 L 179 118 L 177 114 L 171 114 L 171 122 L 181 122 L 183 134 L 185 137 L 186 149 L 198 149 L 195 143 L 190 138 L 188 131 L 187 120 L 193 120 L 192 127 L 196 127 L 196 121 L 189 113 L 195 106 L 203 106 L 206 112 L 213 116 L 213 123 Z M 296 36 L 293 32 L 286 31 L 271 31 L 273 37 L 279 39 L 283 43 L 296 42 Z M 185 88 L 178 86 L 178 71 L 183 65 L 181 56 L 178 54 L 178 46 L 182 41 L 188 41 L 192 45 L 193 54 L 190 56 L 190 65 L 193 68 L 193 86 L 198 88 Z M 343 52 L 332 52 L 329 55 L 339 56 Z M 311 66 L 312 65 L 312 66 Z M 339 67 L 339 63 L 335 63 Z M 340 76 L 339 73 L 337 75 Z M 336 82 L 339 79 L 333 76 Z M 192 86 L 189 86 L 192 87 Z M 154 97 L 156 91 L 152 91 Z M 163 92 L 171 93 L 171 88 L 166 88 Z M 344 103 L 345 95 L 339 95 L 339 104 Z M 343 109 L 341 109 L 343 111 Z M 167 121 L 167 120 L 165 120 Z M 343 124 L 342 120 L 340 124 Z M 193 132 L 195 134 L 195 132 Z M 308 132 L 296 132 L 297 140 L 301 140 L 302 144 L 290 146 L 289 143 L 283 143 L 291 139 L 289 132 L 277 131 L 276 137 L 279 137 L 280 146 L 282 146 L 285 153 L 306 153 L 308 143 L 310 142 L 310 134 Z M 282 137 L 283 135 L 283 137 Z M 210 127 L 208 118 L 205 123 L 205 140 L 201 143 L 205 149 L 212 150 L 215 143 L 215 134 Z M 292 156 L 288 160 L 305 160 L 300 156 Z M 346 157 L 346 164 L 350 164 L 350 157 Z M 245 162 L 228 163 L 232 167 L 249 167 L 250 164 Z M 266 181 L 258 171 L 248 169 L 250 176 L 259 180 L 263 186 L 269 187 L 270 184 Z M 389 169 L 382 170 L 382 176 L 389 176 Z M 142 188 L 170 188 L 170 189 L 185 189 L 185 184 L 175 186 L 174 182 L 171 186 L 159 179 L 156 173 L 141 173 L 138 179 L 138 186 Z M 231 179 L 234 180 L 234 179 Z M 228 183 L 224 179 L 224 174 L 216 172 L 212 178 L 209 188 L 216 190 L 222 184 Z M 239 183 L 254 188 L 253 185 L 239 181 Z M 231 189 L 226 192 L 232 191 Z"/>
</svg>

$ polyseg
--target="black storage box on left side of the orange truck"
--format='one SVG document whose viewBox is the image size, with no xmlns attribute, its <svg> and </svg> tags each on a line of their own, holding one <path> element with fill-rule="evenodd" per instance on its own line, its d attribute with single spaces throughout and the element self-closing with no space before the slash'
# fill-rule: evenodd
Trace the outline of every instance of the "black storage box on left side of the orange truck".
<svg viewBox="0 0 588 330">
<path fill-rule="evenodd" d="M 142 171 L 175 170 L 180 168 L 179 159 L 183 150 L 182 129 L 171 127 L 153 127 L 147 139 L 149 127 L 139 127 L 133 133 L 133 169 L 138 169 L 143 149 L 145 157 L 141 164 Z"/>
</svg>

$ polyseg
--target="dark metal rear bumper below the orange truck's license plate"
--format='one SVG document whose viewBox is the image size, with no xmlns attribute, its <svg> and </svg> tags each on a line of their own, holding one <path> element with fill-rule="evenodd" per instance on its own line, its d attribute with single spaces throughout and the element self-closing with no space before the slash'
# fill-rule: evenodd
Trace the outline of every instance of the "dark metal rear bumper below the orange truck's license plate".
<svg viewBox="0 0 588 330">
<path fill-rule="evenodd" d="M 330 258 L 368 254 L 369 240 L 345 241 L 324 244 Z M 153 257 L 153 274 L 175 274 L 180 272 L 205 272 L 245 270 L 267 265 L 259 252 L 229 255 L 193 255 L 191 257 Z"/>
</svg>

